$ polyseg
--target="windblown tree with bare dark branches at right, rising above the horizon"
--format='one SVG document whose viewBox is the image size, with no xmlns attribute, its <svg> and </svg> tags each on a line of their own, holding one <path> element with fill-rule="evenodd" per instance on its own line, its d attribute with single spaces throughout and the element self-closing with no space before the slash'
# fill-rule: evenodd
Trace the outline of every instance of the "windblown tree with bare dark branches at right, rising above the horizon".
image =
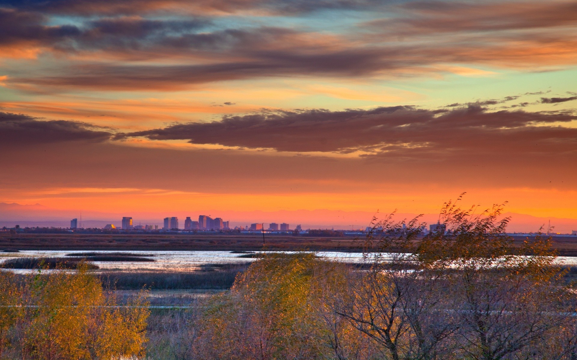
<svg viewBox="0 0 577 360">
<path fill-rule="evenodd" d="M 383 235 L 367 243 L 376 263 L 338 312 L 395 360 L 546 358 L 535 344 L 574 326 L 550 239 L 515 246 L 502 206 L 475 210 L 446 203 L 441 230 L 428 234 L 418 218 L 376 222 Z"/>
</svg>

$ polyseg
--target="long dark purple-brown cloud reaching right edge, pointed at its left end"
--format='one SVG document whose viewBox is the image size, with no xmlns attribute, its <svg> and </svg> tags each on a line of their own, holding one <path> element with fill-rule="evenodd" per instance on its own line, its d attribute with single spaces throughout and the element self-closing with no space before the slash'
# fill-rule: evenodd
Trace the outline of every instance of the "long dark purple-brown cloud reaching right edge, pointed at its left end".
<svg viewBox="0 0 577 360">
<path fill-rule="evenodd" d="M 175 124 L 166 128 L 117 135 L 117 139 L 187 139 L 194 144 L 219 144 L 279 151 L 363 150 L 384 157 L 441 157 L 478 154 L 577 150 L 577 129 L 549 126 L 577 119 L 571 113 L 489 112 L 478 105 L 451 111 L 411 106 L 372 110 L 323 109 L 263 112 L 228 116 L 209 123 Z M 540 149 L 535 143 L 548 143 Z"/>
</svg>

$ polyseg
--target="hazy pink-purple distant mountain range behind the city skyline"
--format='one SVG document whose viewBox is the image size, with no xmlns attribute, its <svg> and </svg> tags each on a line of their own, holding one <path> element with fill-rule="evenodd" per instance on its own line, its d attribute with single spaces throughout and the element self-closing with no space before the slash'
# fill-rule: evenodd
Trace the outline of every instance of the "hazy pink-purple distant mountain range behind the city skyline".
<svg viewBox="0 0 577 360">
<path fill-rule="evenodd" d="M 131 216 L 134 225 L 139 223 L 163 225 L 162 219 L 165 217 L 177 216 L 181 227 L 184 226 L 184 219 L 187 216 L 193 219 L 198 215 L 212 215 L 212 217 L 222 217 L 225 221 L 230 220 L 231 226 L 250 225 L 254 222 L 287 222 L 293 228 L 301 224 L 303 229 L 313 228 L 335 228 L 335 229 L 364 229 L 370 225 L 373 216 L 383 218 L 387 213 L 371 213 L 369 211 L 340 211 L 340 210 L 279 210 L 279 211 L 218 211 L 218 210 L 191 210 L 188 212 L 174 211 L 173 213 L 144 213 L 132 211 L 131 213 L 103 213 L 98 211 L 83 211 L 82 225 L 85 228 L 102 228 L 108 223 L 116 226 L 121 225 L 123 216 Z M 397 213 L 395 219 L 411 219 L 416 214 Z M 549 221 L 554 227 L 553 231 L 558 233 L 571 233 L 577 230 L 577 219 L 567 218 L 545 218 L 534 217 L 527 214 L 505 213 L 504 216 L 511 217 L 509 232 L 536 232 L 544 226 L 548 226 Z M 42 204 L 22 205 L 17 203 L 0 203 L 0 227 L 20 226 L 55 226 L 66 228 L 70 226 L 70 219 L 78 218 L 80 225 L 80 213 L 75 210 L 51 209 Z M 439 218 L 438 214 L 424 214 L 421 221 L 435 223 Z"/>
</svg>

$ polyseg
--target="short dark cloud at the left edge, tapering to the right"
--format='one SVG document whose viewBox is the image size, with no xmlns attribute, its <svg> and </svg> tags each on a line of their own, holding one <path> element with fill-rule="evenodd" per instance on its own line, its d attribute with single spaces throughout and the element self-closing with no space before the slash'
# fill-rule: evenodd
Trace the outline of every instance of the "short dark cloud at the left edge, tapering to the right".
<svg viewBox="0 0 577 360">
<path fill-rule="evenodd" d="M 111 135 L 111 132 L 88 123 L 43 121 L 28 115 L 0 112 L 0 146 L 30 146 L 78 140 L 101 142 Z"/>
</svg>

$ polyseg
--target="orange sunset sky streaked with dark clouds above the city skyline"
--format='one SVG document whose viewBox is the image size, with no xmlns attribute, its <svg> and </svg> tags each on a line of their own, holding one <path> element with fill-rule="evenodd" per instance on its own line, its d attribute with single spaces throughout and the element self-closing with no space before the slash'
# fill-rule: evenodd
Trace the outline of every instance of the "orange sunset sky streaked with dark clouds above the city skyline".
<svg viewBox="0 0 577 360">
<path fill-rule="evenodd" d="M 576 65 L 574 1 L 0 0 L 0 203 L 577 219 Z"/>
</svg>

